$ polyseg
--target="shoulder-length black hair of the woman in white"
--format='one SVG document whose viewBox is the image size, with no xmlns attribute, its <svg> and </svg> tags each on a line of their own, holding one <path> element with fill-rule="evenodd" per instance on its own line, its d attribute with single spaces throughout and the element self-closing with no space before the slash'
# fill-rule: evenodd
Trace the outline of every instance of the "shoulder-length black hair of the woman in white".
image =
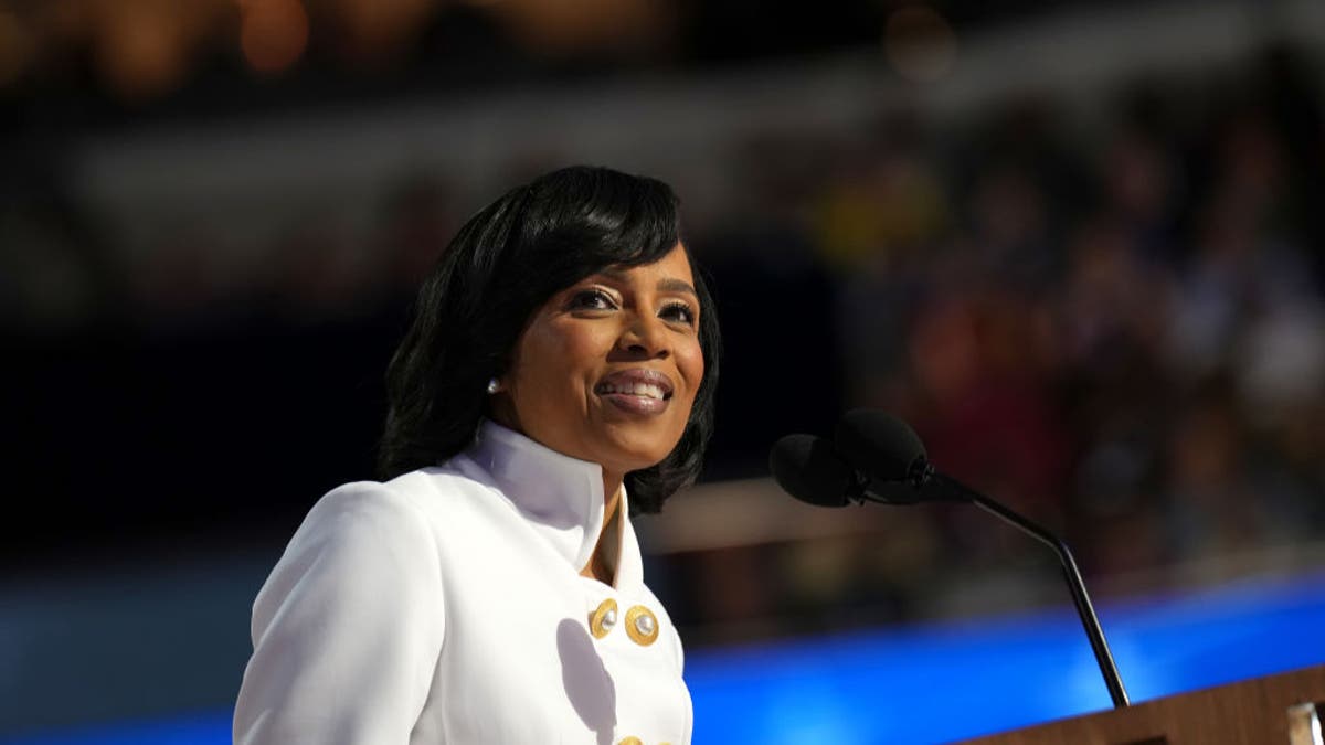
<svg viewBox="0 0 1325 745">
<path fill-rule="evenodd" d="M 507 192 L 469 219 L 424 280 L 387 369 L 379 475 L 392 479 L 469 447 L 488 414 L 488 380 L 506 372 L 526 323 L 549 298 L 611 266 L 661 260 L 680 241 L 665 183 L 574 166 Z M 704 378 L 681 440 L 625 475 L 631 512 L 659 512 L 700 475 L 713 432 L 721 339 L 713 298 L 690 257 Z"/>
</svg>

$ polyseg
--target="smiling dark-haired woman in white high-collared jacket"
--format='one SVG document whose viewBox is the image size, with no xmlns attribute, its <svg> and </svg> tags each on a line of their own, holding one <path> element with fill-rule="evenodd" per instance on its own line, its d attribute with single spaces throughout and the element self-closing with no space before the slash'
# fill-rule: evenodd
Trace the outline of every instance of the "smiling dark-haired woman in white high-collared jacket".
<svg viewBox="0 0 1325 745">
<path fill-rule="evenodd" d="M 253 604 L 237 742 L 690 740 L 628 517 L 713 423 L 677 233 L 665 184 L 587 167 L 461 228 L 387 374 L 387 480 L 319 500 Z"/>
</svg>

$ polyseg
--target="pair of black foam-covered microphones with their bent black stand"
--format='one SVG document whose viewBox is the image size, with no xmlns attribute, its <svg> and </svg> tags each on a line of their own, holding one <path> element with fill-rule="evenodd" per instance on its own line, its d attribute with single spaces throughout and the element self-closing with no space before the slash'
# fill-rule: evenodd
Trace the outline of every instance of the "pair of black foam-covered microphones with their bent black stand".
<svg viewBox="0 0 1325 745">
<path fill-rule="evenodd" d="M 945 476 L 929 463 L 925 445 L 905 422 L 881 411 L 857 408 L 837 423 L 835 443 L 812 435 L 788 435 L 772 447 L 774 479 L 800 501 L 844 506 L 865 501 L 916 504 L 969 502 L 1049 546 L 1059 557 L 1072 602 L 1090 640 L 1114 708 L 1129 704 L 1100 619 L 1085 591 L 1072 550 L 1061 538 L 1011 508 Z"/>
</svg>

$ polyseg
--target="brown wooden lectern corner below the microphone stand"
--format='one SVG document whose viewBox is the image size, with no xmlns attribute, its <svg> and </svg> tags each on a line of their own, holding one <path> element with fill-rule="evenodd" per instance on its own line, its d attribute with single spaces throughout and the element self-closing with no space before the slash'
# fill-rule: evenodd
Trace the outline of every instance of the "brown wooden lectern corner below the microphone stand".
<svg viewBox="0 0 1325 745">
<path fill-rule="evenodd" d="M 1325 665 L 963 740 L 962 745 L 1321 745 L 1317 711 L 1325 713 Z"/>
</svg>

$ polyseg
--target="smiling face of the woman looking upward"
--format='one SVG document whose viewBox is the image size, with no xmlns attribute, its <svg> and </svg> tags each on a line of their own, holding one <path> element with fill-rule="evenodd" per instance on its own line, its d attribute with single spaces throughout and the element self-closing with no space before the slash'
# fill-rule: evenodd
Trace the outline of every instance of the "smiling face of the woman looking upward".
<svg viewBox="0 0 1325 745">
<path fill-rule="evenodd" d="M 685 248 L 554 294 L 515 342 L 498 423 L 617 477 L 661 461 L 704 376 L 700 300 Z"/>
</svg>

